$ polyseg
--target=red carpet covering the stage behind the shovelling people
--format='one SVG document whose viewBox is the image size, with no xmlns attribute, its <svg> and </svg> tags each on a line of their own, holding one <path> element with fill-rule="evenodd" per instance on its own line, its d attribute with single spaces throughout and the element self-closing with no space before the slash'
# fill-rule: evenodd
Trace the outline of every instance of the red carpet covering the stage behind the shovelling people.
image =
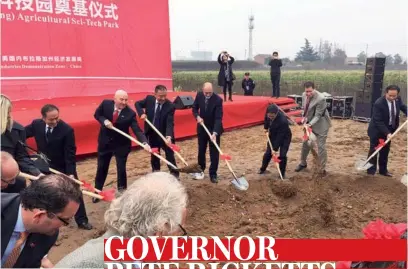
<svg viewBox="0 0 408 269">
<path fill-rule="evenodd" d="M 178 95 L 190 95 L 195 97 L 195 94 L 194 92 L 169 92 L 168 98 L 174 101 Z M 146 95 L 146 93 L 130 94 L 130 107 L 135 110 L 135 101 L 144 98 Z M 44 104 L 52 103 L 58 106 L 61 119 L 75 129 L 77 155 L 92 154 L 95 153 L 97 149 L 99 131 L 99 123 L 94 119 L 93 114 L 103 99 L 111 98 L 113 98 L 113 95 L 15 101 L 13 102 L 12 113 L 16 121 L 26 125 L 35 118 L 41 118 L 40 109 Z M 234 96 L 233 102 L 224 103 L 224 128 L 231 130 L 262 123 L 266 107 L 269 103 L 276 103 L 284 110 L 289 110 L 293 109 L 291 104 L 294 103 L 294 100 L 286 97 L 276 99 L 258 96 Z M 293 116 L 297 113 L 297 111 L 289 112 L 289 114 Z M 140 119 L 138 122 L 139 126 L 143 128 L 143 122 Z M 132 135 L 134 136 L 133 133 Z M 196 121 L 191 113 L 191 109 L 176 110 L 176 139 L 195 135 Z M 35 143 L 32 139 L 28 140 L 28 144 L 35 147 Z"/>
</svg>

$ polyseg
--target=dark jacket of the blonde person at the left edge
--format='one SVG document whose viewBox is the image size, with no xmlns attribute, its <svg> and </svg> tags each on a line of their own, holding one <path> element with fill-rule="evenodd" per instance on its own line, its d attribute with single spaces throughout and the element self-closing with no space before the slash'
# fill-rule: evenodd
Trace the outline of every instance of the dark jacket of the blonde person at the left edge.
<svg viewBox="0 0 408 269">
<path fill-rule="evenodd" d="M 10 153 L 17 161 L 21 172 L 38 176 L 41 172 L 30 159 L 27 150 L 20 143 L 26 142 L 24 127 L 14 121 L 11 131 L 7 130 L 1 135 L 1 150 Z"/>
</svg>

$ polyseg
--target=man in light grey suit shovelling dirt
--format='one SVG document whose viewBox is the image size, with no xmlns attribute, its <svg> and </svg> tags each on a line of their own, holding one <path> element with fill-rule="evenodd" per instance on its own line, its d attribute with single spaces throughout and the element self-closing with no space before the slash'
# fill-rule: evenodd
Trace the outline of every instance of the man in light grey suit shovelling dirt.
<svg viewBox="0 0 408 269">
<path fill-rule="evenodd" d="M 320 161 L 320 169 L 323 175 L 326 174 L 327 151 L 326 139 L 331 127 L 329 112 L 327 111 L 327 103 L 324 95 L 315 90 L 315 85 L 312 81 L 307 81 L 304 84 L 305 92 L 302 96 L 303 107 L 303 124 L 305 128 L 311 128 L 316 136 L 317 155 Z M 307 167 L 307 156 L 310 152 L 310 145 L 307 141 L 303 142 L 300 164 L 295 169 L 299 172 Z"/>
</svg>

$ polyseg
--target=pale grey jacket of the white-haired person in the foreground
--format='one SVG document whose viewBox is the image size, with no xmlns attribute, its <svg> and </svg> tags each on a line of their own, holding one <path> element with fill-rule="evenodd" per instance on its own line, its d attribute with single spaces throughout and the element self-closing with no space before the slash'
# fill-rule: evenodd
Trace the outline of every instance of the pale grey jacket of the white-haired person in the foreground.
<svg viewBox="0 0 408 269">
<path fill-rule="evenodd" d="M 115 235 L 107 231 L 101 237 L 91 239 L 62 258 L 55 268 L 106 268 L 104 262 L 104 239 Z M 121 263 L 116 261 L 116 263 Z M 122 264 L 126 268 L 125 264 Z"/>
</svg>

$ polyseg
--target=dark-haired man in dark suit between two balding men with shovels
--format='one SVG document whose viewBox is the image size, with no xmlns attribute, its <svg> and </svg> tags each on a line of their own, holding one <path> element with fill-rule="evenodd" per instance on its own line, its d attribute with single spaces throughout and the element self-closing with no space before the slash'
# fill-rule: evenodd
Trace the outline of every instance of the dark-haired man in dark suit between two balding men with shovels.
<svg viewBox="0 0 408 269">
<path fill-rule="evenodd" d="M 167 88 L 163 85 L 157 85 L 154 89 L 154 96 L 148 95 L 145 99 L 135 103 L 135 108 L 139 117 L 147 119 L 156 127 L 157 130 L 166 138 L 166 143 L 163 139 L 150 127 L 148 123 L 144 125 L 144 132 L 149 145 L 152 148 L 163 148 L 166 153 L 166 159 L 176 165 L 174 152 L 167 145 L 174 144 L 174 112 L 175 106 L 167 99 Z M 145 109 L 145 110 L 143 110 Z M 150 163 L 153 172 L 160 171 L 160 160 L 154 155 L 151 155 Z M 179 178 L 179 172 L 168 166 L 171 174 Z"/>
</svg>

